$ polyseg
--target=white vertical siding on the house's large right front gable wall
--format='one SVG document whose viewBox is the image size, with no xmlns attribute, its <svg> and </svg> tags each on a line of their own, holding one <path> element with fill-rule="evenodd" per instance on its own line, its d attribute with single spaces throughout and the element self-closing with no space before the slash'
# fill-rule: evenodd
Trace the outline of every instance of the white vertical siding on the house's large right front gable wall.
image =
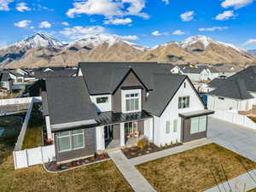
<svg viewBox="0 0 256 192">
<path fill-rule="evenodd" d="M 184 88 L 184 83 L 186 87 Z M 179 96 L 189 96 L 189 108 L 178 108 L 178 97 Z M 182 140 L 182 119 L 178 116 L 179 113 L 188 113 L 197 110 L 204 109 L 205 106 L 202 104 L 201 99 L 197 96 L 195 90 L 190 84 L 189 80 L 186 79 L 183 84 L 177 90 L 175 96 L 173 96 L 172 101 L 169 102 L 165 111 L 160 117 L 154 116 L 154 143 L 158 146 L 181 142 Z M 177 119 L 177 132 L 171 132 L 166 134 L 166 121 L 173 121 Z"/>
</svg>

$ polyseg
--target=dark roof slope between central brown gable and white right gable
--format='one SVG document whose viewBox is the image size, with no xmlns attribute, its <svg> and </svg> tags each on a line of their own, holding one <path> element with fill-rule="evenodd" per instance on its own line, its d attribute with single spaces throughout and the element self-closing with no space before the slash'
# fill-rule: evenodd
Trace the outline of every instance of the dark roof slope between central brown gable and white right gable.
<svg viewBox="0 0 256 192">
<path fill-rule="evenodd" d="M 154 74 L 153 79 L 154 91 L 149 94 L 143 109 L 160 116 L 187 76 Z"/>
</svg>

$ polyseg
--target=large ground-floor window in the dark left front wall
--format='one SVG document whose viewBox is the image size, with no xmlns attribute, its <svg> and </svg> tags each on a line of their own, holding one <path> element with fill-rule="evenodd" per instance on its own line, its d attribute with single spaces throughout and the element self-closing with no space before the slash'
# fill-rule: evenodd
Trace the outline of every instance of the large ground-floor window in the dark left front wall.
<svg viewBox="0 0 256 192">
<path fill-rule="evenodd" d="M 84 131 L 63 131 L 57 133 L 59 152 L 84 148 Z"/>
</svg>

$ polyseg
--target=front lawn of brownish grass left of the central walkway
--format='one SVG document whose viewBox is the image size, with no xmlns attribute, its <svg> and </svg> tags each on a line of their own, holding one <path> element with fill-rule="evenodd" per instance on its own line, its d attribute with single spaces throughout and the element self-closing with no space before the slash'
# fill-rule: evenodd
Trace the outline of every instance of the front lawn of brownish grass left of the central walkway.
<svg viewBox="0 0 256 192">
<path fill-rule="evenodd" d="M 41 165 L 14 171 L 12 149 L 0 143 L 1 192 L 133 191 L 111 160 L 55 174 L 45 172 Z"/>
</svg>

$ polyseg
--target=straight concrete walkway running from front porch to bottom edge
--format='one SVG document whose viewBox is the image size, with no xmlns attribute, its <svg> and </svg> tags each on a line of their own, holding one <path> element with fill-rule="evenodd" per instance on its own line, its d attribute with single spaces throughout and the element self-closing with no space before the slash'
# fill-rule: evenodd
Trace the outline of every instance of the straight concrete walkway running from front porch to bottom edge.
<svg viewBox="0 0 256 192">
<path fill-rule="evenodd" d="M 131 188 L 134 189 L 134 191 L 156 192 L 142 174 L 137 171 L 135 166 L 131 165 L 121 150 L 109 152 L 108 155 L 118 167 L 119 171 L 123 174 L 127 182 L 130 183 Z"/>
</svg>

